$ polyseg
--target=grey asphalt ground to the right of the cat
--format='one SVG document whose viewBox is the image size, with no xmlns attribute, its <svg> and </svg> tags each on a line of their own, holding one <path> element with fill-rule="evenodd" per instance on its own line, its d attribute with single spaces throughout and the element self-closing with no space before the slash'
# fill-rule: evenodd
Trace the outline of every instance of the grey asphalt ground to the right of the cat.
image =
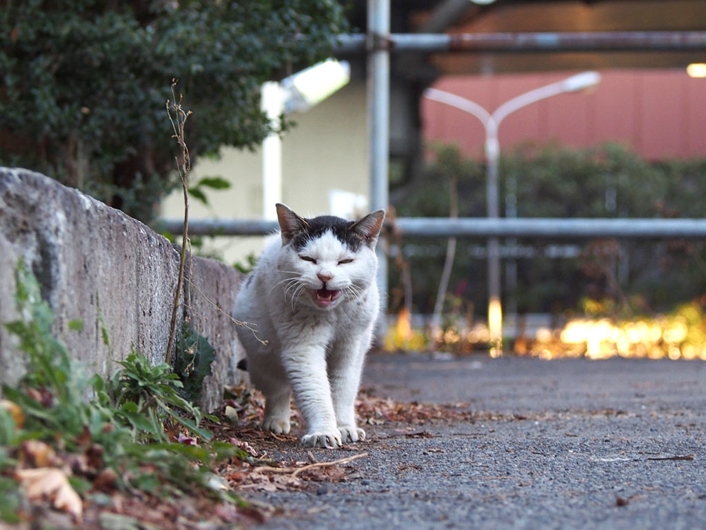
<svg viewBox="0 0 706 530">
<path fill-rule="evenodd" d="M 377 396 L 477 419 L 368 426 L 368 441 L 314 453 L 368 452 L 347 481 L 246 497 L 282 507 L 269 529 L 704 528 L 705 384 L 702 361 L 372 355 Z"/>
</svg>

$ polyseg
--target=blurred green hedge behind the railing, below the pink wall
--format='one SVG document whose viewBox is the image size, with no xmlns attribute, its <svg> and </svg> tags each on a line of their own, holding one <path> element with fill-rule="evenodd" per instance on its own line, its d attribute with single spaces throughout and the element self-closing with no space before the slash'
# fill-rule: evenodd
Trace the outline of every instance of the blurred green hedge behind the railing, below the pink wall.
<svg viewBox="0 0 706 530">
<path fill-rule="evenodd" d="M 455 148 L 438 148 L 413 184 L 393 191 L 399 216 L 448 216 L 449 182 L 458 180 L 460 216 L 482 217 L 485 167 Z M 627 148 L 524 146 L 501 160 L 501 202 L 515 189 L 518 217 L 701 217 L 706 197 L 706 160 L 648 163 Z M 578 256 L 546 257 L 549 245 L 573 245 Z M 520 312 L 582 311 L 586 299 L 602 300 L 607 312 L 669 310 L 706 293 L 706 252 L 696 240 L 521 240 L 532 258 L 517 260 Z M 484 240 L 460 240 L 446 309 L 485 313 Z M 445 240 L 405 239 L 412 267 L 414 310 L 433 309 L 445 256 Z M 504 283 L 503 283 L 504 285 Z M 400 278 L 390 264 L 391 300 Z M 505 293 L 505 303 L 508 298 Z M 396 311 L 393 303 L 391 310 Z"/>
</svg>

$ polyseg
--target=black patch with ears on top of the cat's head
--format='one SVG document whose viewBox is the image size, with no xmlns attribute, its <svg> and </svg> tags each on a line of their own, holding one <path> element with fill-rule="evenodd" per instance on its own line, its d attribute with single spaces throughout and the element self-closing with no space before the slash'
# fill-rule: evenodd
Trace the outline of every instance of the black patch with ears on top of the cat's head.
<svg viewBox="0 0 706 530">
<path fill-rule="evenodd" d="M 291 243 L 297 251 L 306 244 L 332 232 L 352 252 L 358 252 L 363 245 L 374 247 L 383 225 L 385 213 L 382 210 L 370 213 L 359 221 L 349 221 L 336 216 L 318 216 L 311 219 L 298 216 L 284 204 L 277 204 L 277 218 L 282 230 L 282 244 Z"/>
</svg>

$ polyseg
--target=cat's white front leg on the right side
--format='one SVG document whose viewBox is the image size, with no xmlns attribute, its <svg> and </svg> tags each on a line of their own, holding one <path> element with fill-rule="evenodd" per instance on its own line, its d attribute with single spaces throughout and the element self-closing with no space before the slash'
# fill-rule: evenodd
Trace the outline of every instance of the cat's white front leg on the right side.
<svg viewBox="0 0 706 530">
<path fill-rule="evenodd" d="M 369 329 L 359 340 L 352 338 L 337 343 L 328 361 L 331 398 L 343 442 L 365 440 L 365 431 L 356 425 L 355 399 L 371 334 L 372 329 Z"/>
</svg>

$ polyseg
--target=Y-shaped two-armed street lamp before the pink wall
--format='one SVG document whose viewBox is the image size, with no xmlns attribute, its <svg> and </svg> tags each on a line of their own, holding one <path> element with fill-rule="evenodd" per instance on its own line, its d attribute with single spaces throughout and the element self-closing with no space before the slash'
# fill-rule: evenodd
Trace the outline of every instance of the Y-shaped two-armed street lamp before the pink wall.
<svg viewBox="0 0 706 530">
<path fill-rule="evenodd" d="M 517 98 L 504 102 L 492 114 L 475 102 L 461 98 L 458 95 L 427 88 L 424 97 L 433 101 L 450 105 L 463 112 L 477 117 L 485 129 L 485 154 L 487 160 L 486 202 L 489 218 L 500 216 L 498 199 L 498 162 L 500 160 L 500 143 L 498 142 L 498 127 L 505 117 L 520 110 L 530 103 L 551 98 L 553 95 L 565 92 L 577 92 L 597 85 L 601 74 L 595 71 L 578 73 L 575 76 L 535 88 Z M 500 243 L 498 237 L 488 238 L 488 330 L 490 335 L 491 356 L 498 357 L 503 353 L 503 311 L 500 290 Z"/>
</svg>

